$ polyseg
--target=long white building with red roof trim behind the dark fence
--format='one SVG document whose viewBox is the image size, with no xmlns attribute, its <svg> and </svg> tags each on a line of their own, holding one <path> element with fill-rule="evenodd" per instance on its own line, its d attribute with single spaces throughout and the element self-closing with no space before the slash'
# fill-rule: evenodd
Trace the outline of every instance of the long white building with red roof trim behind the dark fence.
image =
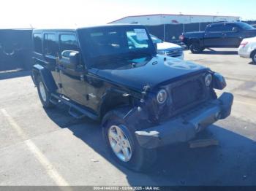
<svg viewBox="0 0 256 191">
<path fill-rule="evenodd" d="M 240 20 L 240 17 L 217 16 L 217 15 L 135 15 L 123 17 L 110 23 L 139 23 L 145 26 L 159 26 L 165 24 L 189 24 L 189 23 L 214 23 L 214 22 L 233 22 Z"/>
</svg>

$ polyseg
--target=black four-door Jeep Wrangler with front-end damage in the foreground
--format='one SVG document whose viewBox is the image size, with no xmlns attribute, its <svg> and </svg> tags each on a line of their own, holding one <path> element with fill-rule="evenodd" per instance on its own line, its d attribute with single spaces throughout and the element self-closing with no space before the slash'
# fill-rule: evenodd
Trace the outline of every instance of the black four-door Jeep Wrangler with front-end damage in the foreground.
<svg viewBox="0 0 256 191">
<path fill-rule="evenodd" d="M 230 115 L 233 95 L 214 92 L 224 77 L 157 55 L 144 26 L 34 30 L 33 39 L 32 78 L 43 106 L 62 102 L 73 117 L 102 120 L 111 155 L 127 168 L 148 169 L 157 147 L 194 139 Z"/>
</svg>

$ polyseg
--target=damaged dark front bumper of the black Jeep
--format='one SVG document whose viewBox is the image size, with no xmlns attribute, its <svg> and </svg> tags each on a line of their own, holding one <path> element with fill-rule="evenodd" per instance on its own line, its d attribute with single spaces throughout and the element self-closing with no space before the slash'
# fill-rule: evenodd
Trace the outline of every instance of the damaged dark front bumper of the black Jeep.
<svg viewBox="0 0 256 191">
<path fill-rule="evenodd" d="M 154 149 L 169 144 L 187 142 L 196 134 L 217 120 L 230 115 L 233 95 L 223 93 L 217 100 L 198 106 L 196 109 L 182 114 L 180 117 L 164 122 L 135 135 L 141 147 Z"/>
</svg>

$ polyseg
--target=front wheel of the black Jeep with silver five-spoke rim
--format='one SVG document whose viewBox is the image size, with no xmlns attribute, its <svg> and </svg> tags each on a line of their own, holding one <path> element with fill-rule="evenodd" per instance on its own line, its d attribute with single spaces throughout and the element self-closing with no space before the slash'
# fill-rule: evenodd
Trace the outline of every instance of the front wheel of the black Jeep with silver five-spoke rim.
<svg viewBox="0 0 256 191">
<path fill-rule="evenodd" d="M 114 160 L 133 171 L 150 171 L 157 159 L 157 150 L 140 147 L 135 137 L 136 128 L 115 111 L 108 112 L 104 120 L 102 133 Z"/>
</svg>

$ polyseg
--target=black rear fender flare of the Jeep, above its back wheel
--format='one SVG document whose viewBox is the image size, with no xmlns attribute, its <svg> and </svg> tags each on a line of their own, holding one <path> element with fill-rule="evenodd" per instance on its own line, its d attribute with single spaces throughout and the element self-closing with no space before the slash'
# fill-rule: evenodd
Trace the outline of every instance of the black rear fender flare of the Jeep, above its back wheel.
<svg viewBox="0 0 256 191">
<path fill-rule="evenodd" d="M 50 93 L 53 93 L 58 89 L 50 71 L 43 66 L 36 64 L 32 68 L 32 79 L 35 85 L 37 85 L 37 77 L 39 76 L 42 77 L 42 82 Z"/>
</svg>

